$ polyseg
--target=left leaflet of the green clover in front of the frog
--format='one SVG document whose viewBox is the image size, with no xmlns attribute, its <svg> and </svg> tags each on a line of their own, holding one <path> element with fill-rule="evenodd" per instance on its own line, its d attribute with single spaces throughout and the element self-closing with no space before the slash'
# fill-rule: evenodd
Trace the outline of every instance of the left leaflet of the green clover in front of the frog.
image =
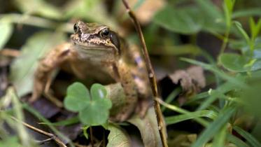
<svg viewBox="0 0 261 147">
<path fill-rule="evenodd" d="M 73 83 L 67 88 L 67 94 L 64 99 L 64 106 L 70 111 L 80 111 L 85 109 L 90 102 L 89 90 L 82 83 Z"/>
</svg>

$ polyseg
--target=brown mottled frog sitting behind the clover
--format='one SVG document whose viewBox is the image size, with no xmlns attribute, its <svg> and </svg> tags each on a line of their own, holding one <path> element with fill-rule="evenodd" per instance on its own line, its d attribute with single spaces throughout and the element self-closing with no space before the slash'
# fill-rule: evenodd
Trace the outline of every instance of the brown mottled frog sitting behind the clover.
<svg viewBox="0 0 261 147">
<path fill-rule="evenodd" d="M 116 31 L 106 25 L 85 23 L 78 20 L 73 25 L 71 41 L 52 48 L 40 61 L 34 73 L 34 87 L 29 102 L 41 94 L 48 94 L 52 73 L 66 64 L 76 77 L 92 76 L 119 83 L 125 94 L 125 102 L 110 119 L 117 122 L 127 120 L 134 113 L 145 116 L 150 106 L 148 73 L 143 57 L 136 45 L 129 45 Z"/>
</svg>

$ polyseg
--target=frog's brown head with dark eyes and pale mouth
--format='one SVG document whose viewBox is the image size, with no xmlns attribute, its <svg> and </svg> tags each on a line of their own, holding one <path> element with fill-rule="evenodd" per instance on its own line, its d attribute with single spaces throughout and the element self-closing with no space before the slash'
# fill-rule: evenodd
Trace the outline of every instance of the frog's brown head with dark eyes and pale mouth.
<svg viewBox="0 0 261 147">
<path fill-rule="evenodd" d="M 118 35 L 106 25 L 78 21 L 73 29 L 71 41 L 81 57 L 113 62 L 120 56 Z"/>
</svg>

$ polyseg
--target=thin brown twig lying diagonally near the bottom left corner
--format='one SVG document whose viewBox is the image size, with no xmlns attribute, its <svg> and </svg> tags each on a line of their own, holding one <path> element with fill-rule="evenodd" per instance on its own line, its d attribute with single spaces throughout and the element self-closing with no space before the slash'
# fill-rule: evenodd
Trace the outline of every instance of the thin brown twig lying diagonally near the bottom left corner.
<svg viewBox="0 0 261 147">
<path fill-rule="evenodd" d="M 44 134 L 45 136 L 50 137 L 50 138 L 53 139 L 60 147 L 67 147 L 67 146 L 66 146 L 58 137 L 56 137 L 54 134 L 45 132 L 45 131 L 40 130 L 40 129 L 34 127 L 34 126 L 31 126 L 31 125 L 29 125 L 29 124 L 27 124 L 27 123 L 24 123 L 24 122 L 22 122 L 22 121 L 20 121 L 20 120 L 17 120 L 17 119 L 16 119 L 15 117 L 13 117 L 13 116 L 12 116 L 11 118 L 12 118 L 13 120 L 19 122 L 19 123 L 22 123 L 22 125 L 24 125 L 25 127 L 28 127 L 28 128 L 31 129 L 31 130 L 34 130 L 35 132 L 38 132 L 38 133 L 40 133 L 40 134 Z"/>
</svg>

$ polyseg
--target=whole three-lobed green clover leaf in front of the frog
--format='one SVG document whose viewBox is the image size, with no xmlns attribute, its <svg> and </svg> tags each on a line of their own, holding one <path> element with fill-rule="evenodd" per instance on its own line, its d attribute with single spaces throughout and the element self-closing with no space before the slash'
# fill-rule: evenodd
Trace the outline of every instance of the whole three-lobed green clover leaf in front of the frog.
<svg viewBox="0 0 261 147">
<path fill-rule="evenodd" d="M 69 111 L 79 112 L 79 119 L 85 125 L 106 123 L 111 109 L 111 100 L 106 97 L 103 85 L 93 84 L 89 90 L 82 83 L 73 83 L 67 88 L 64 106 Z"/>
</svg>

